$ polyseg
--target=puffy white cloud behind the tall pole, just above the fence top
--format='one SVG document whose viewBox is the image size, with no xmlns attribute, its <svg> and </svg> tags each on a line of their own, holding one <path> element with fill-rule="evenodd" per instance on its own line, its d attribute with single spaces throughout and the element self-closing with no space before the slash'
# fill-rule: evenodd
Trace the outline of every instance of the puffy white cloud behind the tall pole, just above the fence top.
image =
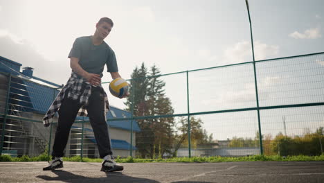
<svg viewBox="0 0 324 183">
<path fill-rule="evenodd" d="M 277 55 L 279 51 L 279 46 L 269 45 L 260 42 L 260 40 L 254 42 L 254 54 L 255 60 L 264 60 L 269 56 Z M 251 43 L 248 41 L 237 42 L 235 45 L 229 47 L 224 51 L 224 60 L 226 62 L 244 62 L 246 57 L 249 56 L 248 60 L 251 58 Z"/>
</svg>

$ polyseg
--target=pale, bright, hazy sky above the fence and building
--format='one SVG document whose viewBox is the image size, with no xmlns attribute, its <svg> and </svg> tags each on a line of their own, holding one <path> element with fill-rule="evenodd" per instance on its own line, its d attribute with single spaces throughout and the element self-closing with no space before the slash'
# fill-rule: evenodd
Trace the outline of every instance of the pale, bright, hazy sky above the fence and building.
<svg viewBox="0 0 324 183">
<path fill-rule="evenodd" d="M 249 9 L 255 60 L 324 51 L 323 0 L 249 0 Z M 0 55 L 22 67 L 33 67 L 38 78 L 65 84 L 71 74 L 67 55 L 75 38 L 93 35 L 100 17 L 114 21 L 105 42 L 114 49 L 125 79 L 142 62 L 147 67 L 155 64 L 161 73 L 173 73 L 253 60 L 244 0 L 0 0 Z M 183 78 L 176 80 L 186 89 Z M 102 81 L 110 80 L 105 73 Z M 277 76 L 268 77 L 261 85 L 276 80 Z M 253 85 L 242 87 L 253 91 Z M 237 95 L 235 91 L 217 95 L 226 98 Z M 193 89 L 195 93 L 199 91 Z M 177 112 L 186 112 L 186 103 L 181 103 L 186 96 L 170 97 L 172 103 L 181 105 Z M 112 101 L 114 105 L 116 98 Z M 201 101 L 209 106 L 213 98 Z"/>
</svg>

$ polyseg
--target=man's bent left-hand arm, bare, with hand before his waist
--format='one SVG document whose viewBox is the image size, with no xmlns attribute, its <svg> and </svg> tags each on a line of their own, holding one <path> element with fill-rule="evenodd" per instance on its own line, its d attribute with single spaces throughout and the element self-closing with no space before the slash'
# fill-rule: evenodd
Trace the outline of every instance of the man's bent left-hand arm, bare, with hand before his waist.
<svg viewBox="0 0 324 183">
<path fill-rule="evenodd" d="M 87 71 L 84 71 L 84 69 L 82 69 L 82 67 L 79 64 L 78 58 L 71 57 L 70 67 L 75 73 L 78 73 L 78 75 L 82 76 L 88 82 L 90 82 L 91 85 L 95 85 L 95 86 L 100 85 L 101 82 L 100 75 L 96 73 L 88 73 Z"/>
</svg>

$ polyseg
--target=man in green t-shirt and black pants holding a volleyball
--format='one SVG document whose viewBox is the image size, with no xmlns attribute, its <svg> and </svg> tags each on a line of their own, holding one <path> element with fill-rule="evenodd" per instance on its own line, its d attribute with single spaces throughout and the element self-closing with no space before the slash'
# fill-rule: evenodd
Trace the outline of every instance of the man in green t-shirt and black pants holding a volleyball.
<svg viewBox="0 0 324 183">
<path fill-rule="evenodd" d="M 58 111 L 52 161 L 43 168 L 44 171 L 63 167 L 64 149 L 71 125 L 77 115 L 89 116 L 100 158 L 103 158 L 101 171 L 123 171 L 123 166 L 117 165 L 112 157 L 105 115 L 109 110 L 109 103 L 107 94 L 101 86 L 105 65 L 113 79 L 121 78 L 116 55 L 104 41 L 113 26 L 111 19 L 103 17 L 96 24 L 96 32 L 93 35 L 78 37 L 73 44 L 69 53 L 71 77 L 43 119 L 44 125 L 48 126 L 55 112 Z M 122 98 L 125 96 L 128 96 L 128 93 Z"/>
</svg>

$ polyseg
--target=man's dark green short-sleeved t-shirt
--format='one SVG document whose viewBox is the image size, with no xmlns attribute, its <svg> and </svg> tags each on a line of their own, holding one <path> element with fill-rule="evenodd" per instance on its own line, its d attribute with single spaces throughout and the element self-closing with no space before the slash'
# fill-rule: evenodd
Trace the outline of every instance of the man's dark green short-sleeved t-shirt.
<svg viewBox="0 0 324 183">
<path fill-rule="evenodd" d="M 102 77 L 102 71 L 107 65 L 108 72 L 118 72 L 116 55 L 106 42 L 94 45 L 91 36 L 78 37 L 73 43 L 69 58 L 79 58 L 79 64 L 89 73 L 97 73 Z"/>
</svg>

